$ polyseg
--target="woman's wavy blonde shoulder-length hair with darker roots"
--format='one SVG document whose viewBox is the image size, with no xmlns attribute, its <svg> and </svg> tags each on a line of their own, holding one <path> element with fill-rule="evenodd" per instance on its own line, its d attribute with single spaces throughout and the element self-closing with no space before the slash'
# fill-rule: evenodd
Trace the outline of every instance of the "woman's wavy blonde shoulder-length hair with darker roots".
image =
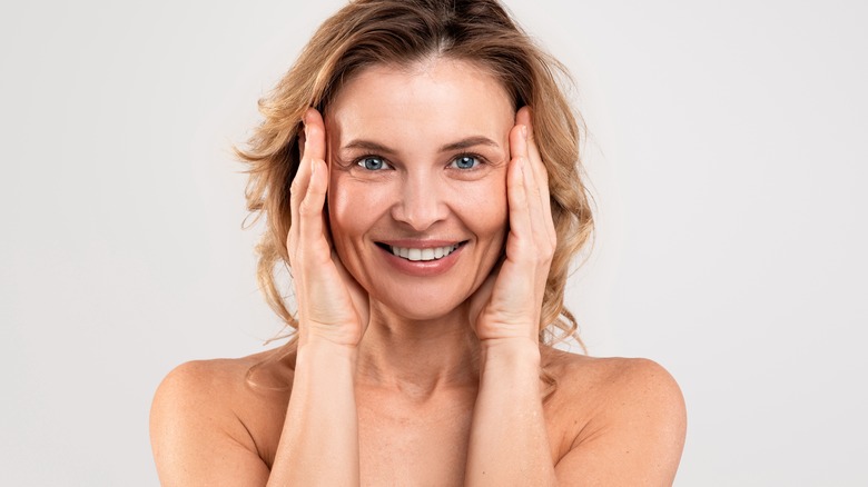
<svg viewBox="0 0 868 487">
<path fill-rule="evenodd" d="M 532 108 L 558 232 L 540 339 L 552 345 L 574 338 L 581 345 L 576 320 L 563 301 L 571 261 L 593 231 L 579 157 L 583 126 L 561 88 L 571 82 L 566 69 L 536 47 L 496 0 L 351 1 L 319 27 L 292 69 L 259 100 L 264 120 L 247 147 L 236 151 L 248 165 L 247 208 L 266 220 L 257 246 L 257 278 L 268 305 L 290 327 L 288 345 L 297 335 L 297 320 L 282 294 L 278 272 L 289 265 L 289 188 L 298 170 L 302 116 L 308 107 L 325 113 L 342 86 L 366 68 L 408 66 L 432 57 L 482 67 L 503 83 L 515 110 Z"/>
</svg>

